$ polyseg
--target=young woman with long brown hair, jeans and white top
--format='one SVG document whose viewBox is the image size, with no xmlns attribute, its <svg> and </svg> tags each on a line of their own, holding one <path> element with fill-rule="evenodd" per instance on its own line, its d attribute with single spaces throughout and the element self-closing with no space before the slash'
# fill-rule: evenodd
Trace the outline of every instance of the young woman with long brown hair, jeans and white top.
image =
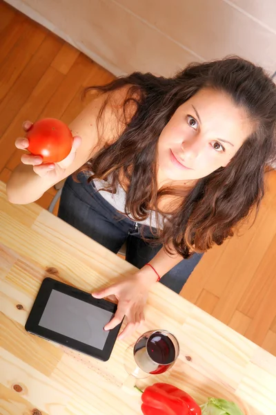
<svg viewBox="0 0 276 415">
<path fill-rule="evenodd" d="M 126 260 L 139 270 L 93 293 L 117 297 L 106 329 L 126 315 L 123 338 L 144 320 L 159 277 L 179 293 L 202 252 L 259 207 L 275 155 L 276 86 L 259 66 L 226 57 L 171 78 L 135 72 L 88 91 L 97 96 L 70 124 L 70 155 L 41 164 L 23 154 L 7 194 L 30 203 L 67 178 L 59 217 L 113 252 L 127 242 Z"/>
</svg>

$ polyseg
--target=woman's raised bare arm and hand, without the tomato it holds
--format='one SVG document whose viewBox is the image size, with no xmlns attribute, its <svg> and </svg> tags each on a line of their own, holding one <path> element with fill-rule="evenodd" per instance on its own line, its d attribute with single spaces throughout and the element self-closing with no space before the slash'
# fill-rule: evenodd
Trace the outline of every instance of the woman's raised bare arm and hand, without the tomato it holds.
<svg viewBox="0 0 276 415">
<path fill-rule="evenodd" d="M 120 108 L 124 94 L 126 94 L 126 91 L 122 89 L 121 91 L 115 91 L 111 96 L 107 93 L 99 95 L 79 113 L 77 118 L 69 125 L 72 136 L 75 136 L 72 151 L 60 163 L 51 163 L 53 165 L 52 169 L 49 169 L 49 164 L 41 164 L 42 158 L 40 156 L 23 154 L 21 157 L 22 163 L 14 169 L 7 183 L 8 200 L 11 203 L 18 204 L 36 201 L 50 187 L 70 176 L 84 165 L 106 141 L 116 138 L 116 131 L 119 131 L 118 126 L 120 127 L 120 124 L 115 111 L 113 111 L 113 106 L 117 104 L 117 107 Z M 103 113 L 104 136 L 103 140 L 99 142 L 97 117 L 103 103 L 109 97 L 110 100 L 108 100 Z M 30 125 L 28 128 L 30 128 Z M 28 140 L 18 138 L 16 145 L 17 148 L 26 149 Z"/>
</svg>

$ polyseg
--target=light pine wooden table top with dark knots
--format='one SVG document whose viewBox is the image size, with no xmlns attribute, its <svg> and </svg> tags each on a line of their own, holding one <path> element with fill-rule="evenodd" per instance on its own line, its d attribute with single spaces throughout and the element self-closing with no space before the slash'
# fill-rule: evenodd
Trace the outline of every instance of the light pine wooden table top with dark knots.
<svg viewBox="0 0 276 415">
<path fill-rule="evenodd" d="M 146 324 L 117 341 L 108 362 L 30 335 L 24 324 L 44 277 L 92 291 L 135 268 L 38 205 L 11 205 L 0 183 L 1 415 L 141 414 L 126 386 L 124 351 L 138 334 L 167 329 L 181 353 L 166 374 L 199 404 L 235 400 L 246 415 L 276 414 L 276 358 L 162 284 L 150 292 Z"/>
</svg>

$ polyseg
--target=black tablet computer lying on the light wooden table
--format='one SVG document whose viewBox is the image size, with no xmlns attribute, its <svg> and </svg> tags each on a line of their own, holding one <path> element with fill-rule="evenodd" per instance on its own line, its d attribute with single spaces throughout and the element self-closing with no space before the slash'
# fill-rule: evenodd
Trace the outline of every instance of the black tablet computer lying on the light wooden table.
<svg viewBox="0 0 276 415">
<path fill-rule="evenodd" d="M 43 280 L 25 325 L 26 331 L 106 361 L 121 324 L 110 331 L 117 305 L 55 279 Z"/>
</svg>

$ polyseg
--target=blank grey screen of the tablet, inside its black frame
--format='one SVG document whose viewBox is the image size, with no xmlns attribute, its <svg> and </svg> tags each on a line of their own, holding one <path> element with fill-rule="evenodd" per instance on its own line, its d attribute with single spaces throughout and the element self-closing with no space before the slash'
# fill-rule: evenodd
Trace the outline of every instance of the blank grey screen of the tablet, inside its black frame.
<svg viewBox="0 0 276 415">
<path fill-rule="evenodd" d="M 112 317 L 110 311 L 52 290 L 39 326 L 103 350 L 109 333 L 103 327 Z"/>
</svg>

